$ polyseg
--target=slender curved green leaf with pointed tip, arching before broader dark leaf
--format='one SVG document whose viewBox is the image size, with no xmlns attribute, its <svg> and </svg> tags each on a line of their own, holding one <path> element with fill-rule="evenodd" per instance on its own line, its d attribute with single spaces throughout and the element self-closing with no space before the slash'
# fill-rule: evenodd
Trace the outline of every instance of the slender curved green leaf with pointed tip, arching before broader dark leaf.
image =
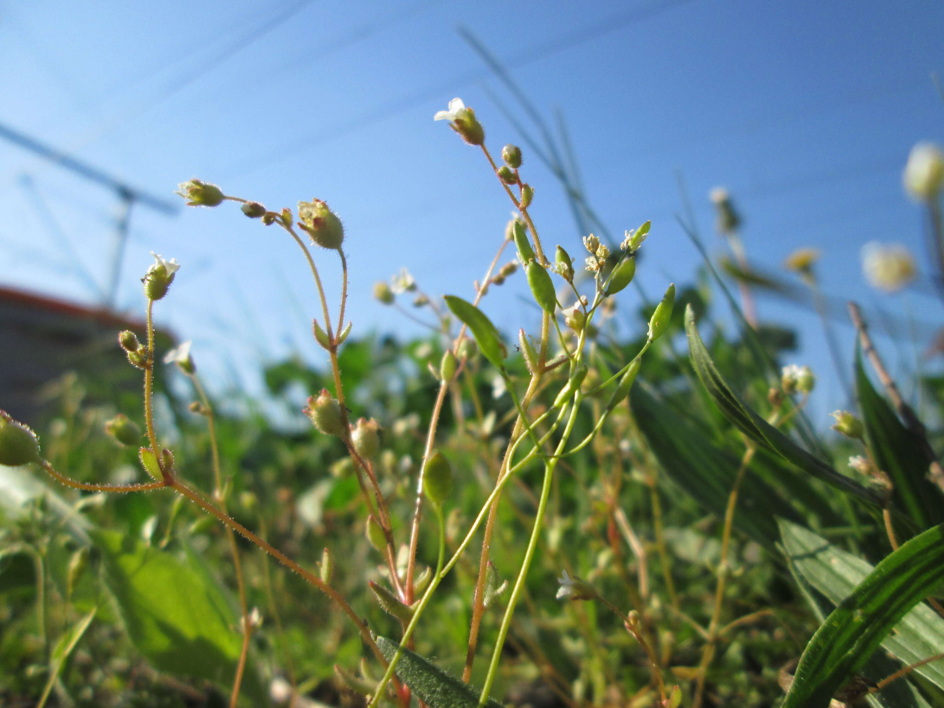
<svg viewBox="0 0 944 708">
<path fill-rule="evenodd" d="M 702 385 L 714 399 L 721 413 L 724 413 L 738 430 L 758 445 L 776 452 L 784 460 L 796 465 L 804 472 L 825 481 L 836 489 L 859 497 L 877 509 L 882 508 L 881 497 L 855 480 L 839 474 L 832 465 L 811 455 L 783 432 L 767 423 L 760 415 L 754 413 L 734 395 L 725 380 L 721 378 L 715 362 L 711 360 L 704 342 L 701 341 L 699 330 L 695 326 L 695 313 L 690 305 L 685 310 L 685 332 L 688 334 L 689 356 L 695 367 L 695 373 L 698 374 Z"/>
</svg>

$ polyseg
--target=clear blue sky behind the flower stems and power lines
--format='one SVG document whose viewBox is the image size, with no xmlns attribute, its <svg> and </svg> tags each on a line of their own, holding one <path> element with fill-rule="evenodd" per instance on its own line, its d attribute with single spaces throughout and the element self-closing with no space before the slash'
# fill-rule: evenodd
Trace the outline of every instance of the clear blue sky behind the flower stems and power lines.
<svg viewBox="0 0 944 708">
<path fill-rule="evenodd" d="M 406 266 L 432 295 L 470 295 L 511 211 L 480 154 L 432 121 L 462 96 L 495 152 L 520 142 L 486 87 L 508 94 L 458 26 L 551 122 L 563 112 L 585 190 L 613 231 L 652 219 L 639 271 L 651 294 L 690 280 L 699 263 L 675 223 L 681 173 L 713 252 L 723 242 L 707 194 L 724 185 L 752 261 L 780 269 L 814 245 L 831 295 L 939 322 L 934 299 L 871 291 L 859 261 L 873 239 L 923 254 L 901 170 L 912 144 L 944 142 L 930 78 L 944 72 L 944 5 L 930 0 L 5 2 L 0 123 L 169 198 L 200 177 L 270 208 L 325 199 L 346 224 L 355 334 L 415 332 L 371 299 L 374 281 Z M 543 238 L 578 254 L 561 189 L 527 150 L 524 174 Z M 37 195 L 92 278 L 106 279 L 113 195 L 0 142 L 0 282 L 92 303 Z M 138 208 L 123 310 L 143 308 L 151 250 L 182 263 L 158 316 L 194 339 L 198 362 L 221 347 L 243 371 L 295 349 L 317 359 L 314 289 L 280 232 L 234 208 Z M 334 260 L 320 257 L 336 292 Z M 517 278 L 486 300 L 504 329 L 535 319 Z M 636 305 L 632 291 L 622 297 L 625 310 Z M 816 319 L 767 300 L 761 315 L 800 329 L 797 361 L 821 372 L 823 410 L 840 403 Z M 851 351 L 851 330 L 839 335 Z M 910 345 L 897 349 L 911 356 Z"/>
</svg>

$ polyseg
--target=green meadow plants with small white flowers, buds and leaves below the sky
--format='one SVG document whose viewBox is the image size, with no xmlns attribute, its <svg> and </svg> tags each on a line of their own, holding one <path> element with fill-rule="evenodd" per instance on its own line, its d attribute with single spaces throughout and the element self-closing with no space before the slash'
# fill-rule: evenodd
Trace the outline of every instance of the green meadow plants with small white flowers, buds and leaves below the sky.
<svg viewBox="0 0 944 708">
<path fill-rule="evenodd" d="M 816 430 L 804 408 L 831 373 L 758 324 L 754 295 L 779 285 L 750 268 L 729 194 L 712 199 L 731 260 L 649 297 L 634 276 L 657 227 L 588 229 L 568 253 L 529 210 L 528 163 L 558 164 L 553 145 L 493 154 L 459 99 L 435 117 L 517 216 L 474 291 L 377 284 L 427 334 L 358 326 L 357 235 L 324 201 L 270 209 L 194 179 L 188 204 L 293 240 L 316 283 L 324 363 L 262 372 L 285 419 L 208 396 L 189 343 L 155 345 L 187 267 L 160 256 L 146 330 L 115 343 L 143 395 L 67 377 L 40 430 L 0 412 L 0 704 L 944 706 L 942 380 L 892 379 L 850 304 L 850 410 Z M 905 186 L 937 253 L 942 182 L 940 151 L 916 147 Z M 907 252 L 869 248 L 878 287 L 914 278 Z M 787 267 L 819 307 L 816 260 Z M 929 266 L 940 282 L 944 256 Z M 532 330 L 487 314 L 513 278 Z"/>
</svg>

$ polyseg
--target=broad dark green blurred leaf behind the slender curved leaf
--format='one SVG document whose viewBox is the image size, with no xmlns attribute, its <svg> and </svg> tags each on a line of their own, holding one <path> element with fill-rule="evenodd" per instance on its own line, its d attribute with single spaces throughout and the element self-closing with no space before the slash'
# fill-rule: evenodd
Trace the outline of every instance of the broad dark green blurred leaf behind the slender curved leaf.
<svg viewBox="0 0 944 708">
<path fill-rule="evenodd" d="M 630 397 L 632 413 L 666 474 L 705 511 L 723 517 L 740 465 L 694 424 L 639 386 Z M 765 548 L 774 548 L 780 532 L 776 516 L 800 521 L 790 503 L 752 472 L 741 482 L 734 528 Z"/>
</svg>

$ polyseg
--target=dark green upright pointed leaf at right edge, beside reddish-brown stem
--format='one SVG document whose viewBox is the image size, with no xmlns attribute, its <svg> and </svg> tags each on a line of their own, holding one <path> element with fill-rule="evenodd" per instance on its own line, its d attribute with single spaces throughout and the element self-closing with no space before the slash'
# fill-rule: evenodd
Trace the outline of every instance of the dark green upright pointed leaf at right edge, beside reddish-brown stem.
<svg viewBox="0 0 944 708">
<path fill-rule="evenodd" d="M 928 459 L 918 435 L 908 430 L 888 402 L 868 380 L 862 360 L 855 361 L 855 391 L 866 426 L 868 447 L 892 483 L 895 506 L 911 518 L 919 529 L 944 522 L 944 496 L 927 479 Z"/>
</svg>

